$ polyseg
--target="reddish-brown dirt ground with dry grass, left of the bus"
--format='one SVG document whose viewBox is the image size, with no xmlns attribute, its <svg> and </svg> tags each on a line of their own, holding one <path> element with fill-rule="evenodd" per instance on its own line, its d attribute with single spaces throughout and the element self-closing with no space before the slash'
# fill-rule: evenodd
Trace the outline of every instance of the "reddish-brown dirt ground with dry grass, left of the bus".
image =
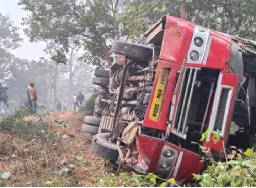
<svg viewBox="0 0 256 188">
<path fill-rule="evenodd" d="M 44 121 L 50 125 L 47 141 L 0 133 L 0 172 L 11 172 L 6 186 L 98 186 L 92 179 L 115 172 L 115 165 L 92 152 L 92 135 L 81 131 L 80 115 L 50 114 Z"/>
</svg>

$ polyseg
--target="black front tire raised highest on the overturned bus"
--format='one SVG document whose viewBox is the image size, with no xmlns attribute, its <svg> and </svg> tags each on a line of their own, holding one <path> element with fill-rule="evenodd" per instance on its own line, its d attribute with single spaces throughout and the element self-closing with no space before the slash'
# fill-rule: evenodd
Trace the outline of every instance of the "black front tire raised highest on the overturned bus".
<svg viewBox="0 0 256 188">
<path fill-rule="evenodd" d="M 112 51 L 127 57 L 148 61 L 152 59 L 153 54 L 152 47 L 121 40 L 116 40 L 112 43 Z"/>
</svg>

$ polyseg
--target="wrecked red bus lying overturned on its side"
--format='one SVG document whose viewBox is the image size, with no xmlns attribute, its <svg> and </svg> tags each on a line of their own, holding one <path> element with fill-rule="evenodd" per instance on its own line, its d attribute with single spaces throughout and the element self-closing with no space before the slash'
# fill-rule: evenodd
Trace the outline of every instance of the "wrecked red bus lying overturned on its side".
<svg viewBox="0 0 256 188">
<path fill-rule="evenodd" d="M 189 182 L 204 166 L 193 142 L 206 130 L 202 145 L 216 159 L 224 147 L 251 147 L 256 42 L 172 16 L 145 36 L 151 47 L 113 42 L 116 62 L 95 70 L 93 83 L 102 89 L 82 128 L 97 133 L 93 150 L 139 173 Z"/>
</svg>

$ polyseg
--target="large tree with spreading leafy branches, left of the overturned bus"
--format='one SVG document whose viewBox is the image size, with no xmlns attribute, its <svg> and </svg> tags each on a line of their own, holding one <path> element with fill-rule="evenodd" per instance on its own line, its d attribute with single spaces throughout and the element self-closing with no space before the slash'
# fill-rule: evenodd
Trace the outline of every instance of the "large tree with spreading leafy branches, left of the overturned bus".
<svg viewBox="0 0 256 188">
<path fill-rule="evenodd" d="M 23 18 L 30 41 L 50 40 L 61 44 L 68 51 L 69 39 L 80 38 L 76 44 L 84 48 L 84 61 L 100 57 L 112 65 L 110 42 L 119 38 L 117 21 L 119 0 L 20 0 L 19 5 L 31 13 Z M 91 58 L 91 60 L 94 60 Z M 103 62 L 91 61 L 102 66 Z"/>
</svg>

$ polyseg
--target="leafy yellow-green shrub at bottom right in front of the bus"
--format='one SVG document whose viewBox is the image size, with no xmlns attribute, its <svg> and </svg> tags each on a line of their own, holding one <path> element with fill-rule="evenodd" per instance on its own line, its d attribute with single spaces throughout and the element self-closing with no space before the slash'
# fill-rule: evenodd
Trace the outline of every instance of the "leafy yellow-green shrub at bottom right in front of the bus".
<svg viewBox="0 0 256 188">
<path fill-rule="evenodd" d="M 202 140 L 205 139 L 202 136 Z M 215 142 L 219 137 L 215 138 Z M 209 150 L 199 145 L 204 153 Z M 244 153 L 232 146 L 233 151 L 225 149 L 225 161 L 216 161 L 212 155 L 202 157 L 208 167 L 201 174 L 193 174 L 202 187 L 251 187 L 256 186 L 256 153 L 248 148 Z M 229 152 L 226 154 L 226 152 Z"/>
</svg>

